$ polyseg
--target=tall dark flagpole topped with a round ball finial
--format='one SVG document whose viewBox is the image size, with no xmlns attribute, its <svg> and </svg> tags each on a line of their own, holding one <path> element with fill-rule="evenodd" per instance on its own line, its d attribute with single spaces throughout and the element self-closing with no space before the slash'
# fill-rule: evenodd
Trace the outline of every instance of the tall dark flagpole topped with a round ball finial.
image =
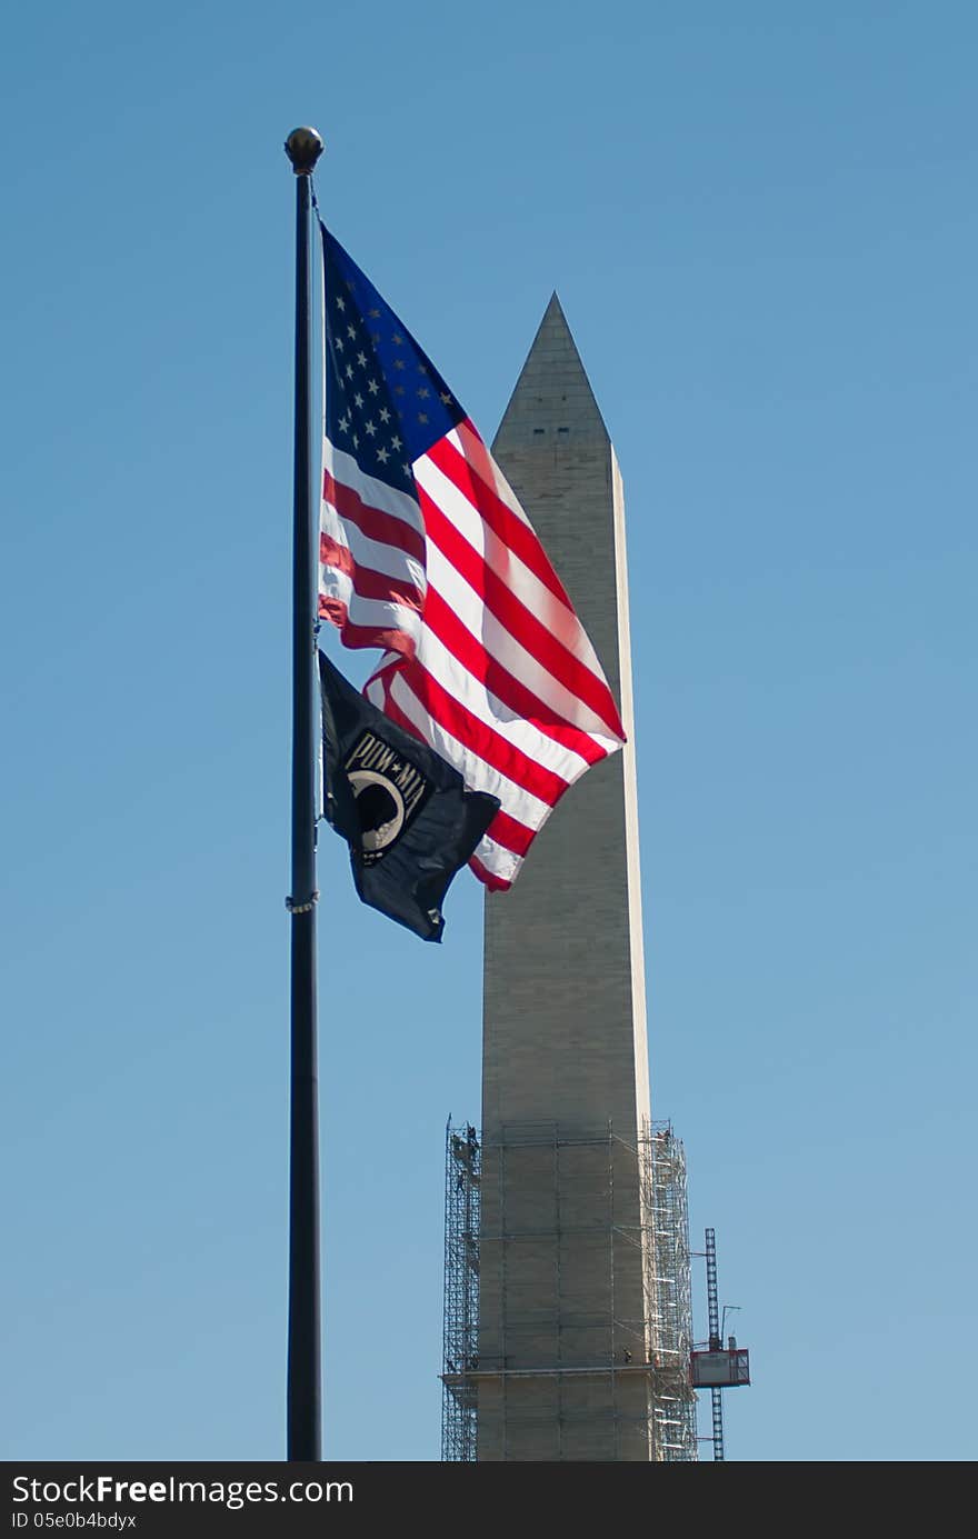
<svg viewBox="0 0 978 1539">
<path fill-rule="evenodd" d="M 291 1116 L 288 1236 L 286 1459 L 320 1448 L 319 1097 L 316 1077 L 316 562 L 313 548 L 313 416 L 310 391 L 310 179 L 322 154 L 314 128 L 285 142 L 296 172 L 296 452 L 293 545 L 293 870 Z"/>
</svg>

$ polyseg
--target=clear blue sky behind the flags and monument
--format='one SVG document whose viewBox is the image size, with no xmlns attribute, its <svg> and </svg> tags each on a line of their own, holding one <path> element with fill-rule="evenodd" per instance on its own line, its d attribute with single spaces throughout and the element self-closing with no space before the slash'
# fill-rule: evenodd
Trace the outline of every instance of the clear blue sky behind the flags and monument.
<svg viewBox="0 0 978 1539">
<path fill-rule="evenodd" d="M 0 1451 L 283 1453 L 311 122 L 482 431 L 556 286 L 621 457 L 653 1103 L 752 1348 L 728 1453 L 973 1457 L 978 14 L 300 22 L 6 26 Z M 320 886 L 327 1451 L 437 1459 L 481 890 L 436 948 L 330 834 Z"/>
</svg>

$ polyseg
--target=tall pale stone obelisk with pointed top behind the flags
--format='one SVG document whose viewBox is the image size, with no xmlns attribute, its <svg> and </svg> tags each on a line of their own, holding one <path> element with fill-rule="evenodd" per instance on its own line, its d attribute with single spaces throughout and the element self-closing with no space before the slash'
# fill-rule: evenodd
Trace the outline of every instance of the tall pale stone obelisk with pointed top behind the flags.
<svg viewBox="0 0 978 1539">
<path fill-rule="evenodd" d="M 648 1062 L 622 483 L 558 297 L 493 452 L 619 700 L 485 903 L 477 1456 L 648 1461 Z"/>
</svg>

